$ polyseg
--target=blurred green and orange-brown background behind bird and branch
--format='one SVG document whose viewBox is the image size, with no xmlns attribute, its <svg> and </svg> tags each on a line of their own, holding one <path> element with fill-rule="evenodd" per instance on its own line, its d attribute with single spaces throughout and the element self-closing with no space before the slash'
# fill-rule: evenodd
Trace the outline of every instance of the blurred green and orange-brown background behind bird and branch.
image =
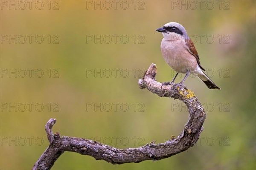
<svg viewBox="0 0 256 170">
<path fill-rule="evenodd" d="M 137 84 L 151 63 L 158 81 L 174 77 L 155 30 L 178 22 L 221 88 L 209 90 L 192 77 L 184 83 L 207 113 L 198 143 L 138 164 L 65 152 L 52 169 L 256 169 L 255 6 L 254 0 L 1 0 L 0 168 L 32 168 L 49 145 L 50 118 L 57 119 L 54 132 L 118 148 L 178 136 L 188 119 L 185 104 Z"/>
</svg>

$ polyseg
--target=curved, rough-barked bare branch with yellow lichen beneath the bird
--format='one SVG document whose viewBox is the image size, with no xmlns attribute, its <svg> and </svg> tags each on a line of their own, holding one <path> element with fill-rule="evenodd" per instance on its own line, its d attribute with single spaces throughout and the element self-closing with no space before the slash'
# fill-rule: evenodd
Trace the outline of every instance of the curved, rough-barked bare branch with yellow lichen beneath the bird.
<svg viewBox="0 0 256 170">
<path fill-rule="evenodd" d="M 138 163 L 151 159 L 160 160 L 192 147 L 198 141 L 200 133 L 204 130 L 203 123 L 206 117 L 204 108 L 195 94 L 183 85 L 177 86 L 177 88 L 175 88 L 175 84 L 165 85 L 162 89 L 162 84 L 155 79 L 156 74 L 157 67 L 155 64 L 151 64 L 145 72 L 143 79 L 139 80 L 140 88 L 147 88 L 152 93 L 161 97 L 179 99 L 189 109 L 189 120 L 177 139 L 172 137 L 172 139 L 164 143 L 155 144 L 155 142 L 151 142 L 143 147 L 117 149 L 92 140 L 68 136 L 61 137 L 58 132 L 53 135 L 52 126 L 56 120 L 50 119 L 45 126 L 50 145 L 35 163 L 33 170 L 50 169 L 64 151 L 93 156 L 96 160 L 102 159 L 112 164 L 123 164 L 128 162 Z"/>
</svg>

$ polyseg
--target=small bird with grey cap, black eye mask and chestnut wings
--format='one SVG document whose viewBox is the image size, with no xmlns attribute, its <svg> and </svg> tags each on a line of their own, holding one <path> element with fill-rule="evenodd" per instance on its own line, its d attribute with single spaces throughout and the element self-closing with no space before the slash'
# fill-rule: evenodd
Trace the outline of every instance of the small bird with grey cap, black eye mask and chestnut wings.
<svg viewBox="0 0 256 170">
<path fill-rule="evenodd" d="M 195 45 L 190 40 L 186 29 L 179 23 L 171 22 L 158 28 L 156 31 L 163 34 L 161 42 L 161 52 L 163 58 L 173 70 L 177 72 L 172 82 L 163 82 L 163 85 L 174 83 L 179 73 L 186 74 L 184 79 L 175 86 L 183 85 L 183 82 L 193 74 L 198 76 L 209 89 L 221 90 L 212 80 L 203 72 L 205 69 L 201 66 L 199 55 Z"/>
</svg>

